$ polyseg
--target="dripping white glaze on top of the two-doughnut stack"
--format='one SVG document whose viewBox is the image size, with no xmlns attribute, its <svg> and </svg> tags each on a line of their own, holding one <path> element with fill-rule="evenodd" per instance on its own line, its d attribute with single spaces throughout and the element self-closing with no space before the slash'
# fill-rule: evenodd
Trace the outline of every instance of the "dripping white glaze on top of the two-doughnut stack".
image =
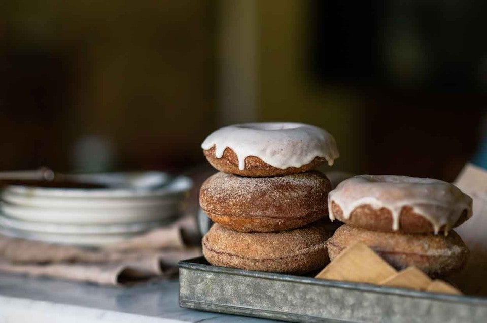
<svg viewBox="0 0 487 323">
<path fill-rule="evenodd" d="M 335 202 L 345 219 L 359 206 L 387 208 L 393 216 L 393 230 L 399 229 L 399 216 L 404 206 L 431 222 L 435 233 L 445 225 L 445 233 L 457 222 L 463 210 L 472 216 L 472 198 L 456 186 L 430 178 L 394 175 L 359 175 L 341 182 L 328 195 L 330 219 L 335 219 L 331 204 Z"/>
</svg>

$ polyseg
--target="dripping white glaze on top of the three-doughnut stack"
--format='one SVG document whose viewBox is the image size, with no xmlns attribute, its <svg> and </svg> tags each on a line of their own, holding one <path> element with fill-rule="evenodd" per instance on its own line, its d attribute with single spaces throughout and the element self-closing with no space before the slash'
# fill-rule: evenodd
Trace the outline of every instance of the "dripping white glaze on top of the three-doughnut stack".
<svg viewBox="0 0 487 323">
<path fill-rule="evenodd" d="M 201 144 L 204 150 L 216 147 L 221 158 L 231 148 L 238 158 L 238 168 L 245 168 L 245 158 L 255 156 L 280 169 L 301 167 L 316 157 L 328 165 L 339 157 L 335 138 L 321 128 L 304 123 L 242 123 L 220 128 Z"/>
</svg>

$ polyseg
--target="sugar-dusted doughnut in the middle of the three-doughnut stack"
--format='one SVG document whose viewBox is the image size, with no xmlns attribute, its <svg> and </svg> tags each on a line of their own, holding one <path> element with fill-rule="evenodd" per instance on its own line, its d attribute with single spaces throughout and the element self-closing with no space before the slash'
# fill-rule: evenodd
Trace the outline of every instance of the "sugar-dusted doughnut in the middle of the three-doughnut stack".
<svg viewBox="0 0 487 323">
<path fill-rule="evenodd" d="M 201 186 L 200 204 L 220 215 L 293 218 L 322 212 L 326 216 L 330 189 L 330 181 L 318 171 L 278 177 L 220 172 Z"/>
</svg>

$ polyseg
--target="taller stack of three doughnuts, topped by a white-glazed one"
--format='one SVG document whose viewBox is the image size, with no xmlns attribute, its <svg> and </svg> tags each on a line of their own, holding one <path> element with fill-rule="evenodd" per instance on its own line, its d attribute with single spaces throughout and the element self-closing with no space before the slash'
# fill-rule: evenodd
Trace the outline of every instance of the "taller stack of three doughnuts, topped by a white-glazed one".
<svg viewBox="0 0 487 323">
<path fill-rule="evenodd" d="M 203 153 L 219 173 L 200 190 L 215 224 L 203 254 L 215 266 L 305 273 L 328 262 L 328 178 L 316 166 L 338 158 L 334 138 L 302 123 L 247 123 L 208 136 Z"/>
</svg>

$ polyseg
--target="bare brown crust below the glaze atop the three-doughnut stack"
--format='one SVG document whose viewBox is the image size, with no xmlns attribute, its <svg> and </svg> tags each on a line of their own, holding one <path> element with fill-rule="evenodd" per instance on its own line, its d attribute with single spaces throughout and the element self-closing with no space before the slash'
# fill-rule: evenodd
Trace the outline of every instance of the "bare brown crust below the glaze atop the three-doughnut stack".
<svg viewBox="0 0 487 323">
<path fill-rule="evenodd" d="M 206 159 L 213 167 L 220 172 L 249 177 L 282 176 L 303 173 L 325 163 L 326 161 L 325 158 L 316 157 L 311 161 L 311 163 L 301 167 L 288 167 L 286 169 L 280 169 L 270 166 L 258 157 L 249 156 L 245 158 L 245 168 L 240 170 L 238 168 L 237 155 L 231 148 L 226 148 L 221 158 L 217 158 L 215 156 L 215 149 L 215 146 L 213 146 L 210 149 L 203 150 Z"/>
</svg>

